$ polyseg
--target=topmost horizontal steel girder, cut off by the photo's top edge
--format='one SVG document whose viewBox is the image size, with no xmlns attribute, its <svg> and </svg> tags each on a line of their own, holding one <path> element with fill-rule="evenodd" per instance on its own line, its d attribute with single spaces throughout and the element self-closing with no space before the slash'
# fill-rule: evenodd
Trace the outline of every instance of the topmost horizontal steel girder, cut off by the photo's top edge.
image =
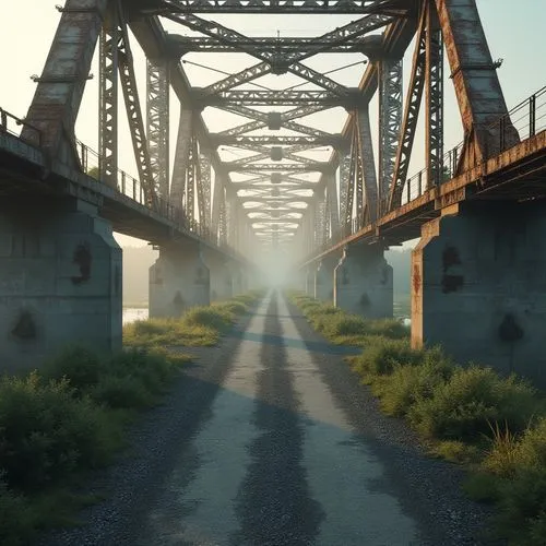
<svg viewBox="0 0 546 546">
<path fill-rule="evenodd" d="M 151 0 L 142 2 L 142 9 L 151 13 L 280 13 L 280 14 L 403 14 L 401 0 Z"/>
</svg>

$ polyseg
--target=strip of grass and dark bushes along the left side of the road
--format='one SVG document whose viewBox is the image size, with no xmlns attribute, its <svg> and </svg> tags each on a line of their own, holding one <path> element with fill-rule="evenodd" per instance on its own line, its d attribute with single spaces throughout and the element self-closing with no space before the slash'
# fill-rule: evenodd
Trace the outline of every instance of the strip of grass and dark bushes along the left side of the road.
<svg viewBox="0 0 546 546">
<path fill-rule="evenodd" d="M 104 357 L 74 345 L 25 377 L 0 377 L 0 544 L 29 544 L 71 525 L 95 497 L 74 492 L 115 460 L 126 425 L 158 402 L 189 357 L 179 345 L 217 342 L 259 293 L 189 310 L 179 320 L 124 328 L 124 351 Z"/>
</svg>

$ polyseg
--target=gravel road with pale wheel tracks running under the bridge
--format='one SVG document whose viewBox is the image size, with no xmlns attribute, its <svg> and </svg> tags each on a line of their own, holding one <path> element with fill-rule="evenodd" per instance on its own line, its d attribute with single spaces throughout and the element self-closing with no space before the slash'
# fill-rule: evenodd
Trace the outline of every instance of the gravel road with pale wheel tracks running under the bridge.
<svg viewBox="0 0 546 546">
<path fill-rule="evenodd" d="M 492 544 L 461 470 L 381 415 L 348 351 L 270 293 L 93 476 L 107 500 L 40 546 Z"/>
</svg>

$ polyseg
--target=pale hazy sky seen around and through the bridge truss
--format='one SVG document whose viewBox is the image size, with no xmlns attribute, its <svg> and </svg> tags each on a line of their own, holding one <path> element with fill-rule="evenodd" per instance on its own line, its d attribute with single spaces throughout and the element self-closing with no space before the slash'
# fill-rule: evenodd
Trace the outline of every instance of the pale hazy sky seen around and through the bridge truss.
<svg viewBox="0 0 546 546">
<path fill-rule="evenodd" d="M 31 80 L 32 74 L 40 74 L 49 46 L 60 17 L 56 10 L 56 4 L 62 0 L 16 0 L 2 2 L 0 4 L 0 21 L 2 32 L 0 33 L 0 107 L 23 117 L 25 116 L 35 84 Z M 502 59 L 502 66 L 498 71 L 500 83 L 505 93 L 508 107 L 515 106 L 529 95 L 546 85 L 546 41 L 544 40 L 544 21 L 546 21 L 546 0 L 476 0 L 482 16 L 482 23 L 488 39 L 489 48 L 494 60 Z M 517 7 L 517 8 L 515 8 Z M 290 16 L 237 16 L 216 15 L 212 19 L 233 26 L 237 31 L 254 36 L 314 36 L 341 26 L 354 16 L 321 16 L 321 15 L 290 15 Z M 169 32 L 179 34 L 190 34 L 183 27 L 166 22 Z M 142 51 L 135 40 L 133 54 L 135 68 L 141 90 L 141 102 L 145 100 L 145 62 Z M 97 48 L 98 49 L 98 48 Z M 411 70 L 411 57 L 413 45 L 410 46 L 405 56 L 404 81 Z M 87 83 L 82 107 L 76 122 L 76 135 L 80 140 L 97 149 L 97 127 L 98 127 L 98 67 L 95 60 L 92 67 L 93 80 Z M 215 70 L 238 71 L 245 66 L 258 62 L 249 56 L 236 54 L 213 57 L 211 55 L 191 54 L 185 60 L 190 61 L 185 64 L 192 85 L 207 85 L 222 78 L 222 74 L 212 70 L 197 67 L 205 64 Z M 309 60 L 309 66 L 319 70 L 331 70 L 353 62 L 364 61 L 365 58 L 355 55 L 329 55 L 319 56 Z M 332 74 L 342 84 L 355 86 L 365 69 L 364 63 L 357 67 L 339 71 Z M 270 87 L 278 86 L 278 78 L 283 78 L 283 86 L 290 76 L 270 75 L 259 83 Z M 294 79 L 294 83 L 300 81 Z M 305 87 L 304 87 L 305 88 Z M 456 145 L 462 139 L 459 108 L 454 99 L 454 92 L 449 80 L 449 69 L 446 70 L 444 82 L 444 141 L 446 150 Z M 171 143 L 176 142 L 176 131 L 178 124 L 178 108 L 176 100 L 171 100 Z M 371 103 L 372 127 L 377 124 L 377 103 Z M 234 115 L 221 112 L 217 109 L 206 109 L 203 114 L 205 121 L 213 131 L 219 131 L 234 123 L 239 123 L 246 119 Z M 122 117 L 121 117 L 122 118 Z M 343 110 L 328 110 L 321 115 L 309 118 L 309 124 L 320 129 L 336 132 L 343 126 L 345 114 Z M 423 117 L 422 117 L 423 118 Z M 422 119 L 423 120 L 423 119 Z M 423 132 L 423 126 L 420 132 Z M 134 159 L 132 158 L 132 147 L 127 123 L 121 122 L 120 127 L 120 155 L 119 166 L 130 174 L 135 174 Z M 410 174 L 418 171 L 423 165 L 424 139 L 417 135 L 416 147 L 413 154 Z M 171 145 L 173 145 L 171 144 Z M 319 154 L 327 153 L 325 150 Z M 170 154 L 171 157 L 174 154 Z M 221 151 L 221 155 L 226 161 L 237 158 L 234 152 Z M 242 155 L 242 154 L 241 154 Z M 317 154 L 310 155 L 318 161 L 324 157 Z M 122 246 L 144 245 L 143 241 L 118 236 L 118 241 Z"/>
</svg>

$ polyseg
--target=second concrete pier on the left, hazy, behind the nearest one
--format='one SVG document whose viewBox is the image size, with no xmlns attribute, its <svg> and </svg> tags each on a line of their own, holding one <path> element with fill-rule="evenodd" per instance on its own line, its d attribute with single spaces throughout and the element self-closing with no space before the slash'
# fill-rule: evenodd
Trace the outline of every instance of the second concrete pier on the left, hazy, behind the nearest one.
<svg viewBox="0 0 546 546">
<path fill-rule="evenodd" d="M 211 304 L 211 278 L 199 242 L 165 245 L 150 268 L 150 317 L 180 317 Z"/>
</svg>

